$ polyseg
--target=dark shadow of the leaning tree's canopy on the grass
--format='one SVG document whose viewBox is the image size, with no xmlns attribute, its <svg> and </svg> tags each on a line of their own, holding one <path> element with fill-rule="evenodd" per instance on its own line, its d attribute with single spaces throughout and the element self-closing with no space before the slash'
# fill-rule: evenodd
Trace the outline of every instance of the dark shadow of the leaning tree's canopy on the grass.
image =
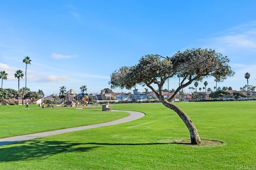
<svg viewBox="0 0 256 170">
<path fill-rule="evenodd" d="M 72 143 L 64 141 L 24 141 L 16 143 L 13 147 L 0 148 L 0 162 L 29 160 L 45 158 L 65 152 L 88 152 L 97 147 L 85 147 L 84 143 Z"/>
</svg>

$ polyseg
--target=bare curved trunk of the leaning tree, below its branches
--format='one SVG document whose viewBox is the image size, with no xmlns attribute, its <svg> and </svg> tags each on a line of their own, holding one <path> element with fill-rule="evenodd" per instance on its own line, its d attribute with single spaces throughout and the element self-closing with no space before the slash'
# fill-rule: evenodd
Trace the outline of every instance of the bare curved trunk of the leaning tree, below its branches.
<svg viewBox="0 0 256 170">
<path fill-rule="evenodd" d="M 164 106 L 175 111 L 180 116 L 180 118 L 184 121 L 184 123 L 186 124 L 186 126 L 190 132 L 191 144 L 197 145 L 197 144 L 202 143 L 202 141 L 200 140 L 199 134 L 196 130 L 196 127 L 195 127 L 194 123 L 192 122 L 192 120 L 188 117 L 188 115 L 180 107 L 168 102 L 165 99 L 162 100 L 162 103 L 164 104 Z"/>
</svg>

